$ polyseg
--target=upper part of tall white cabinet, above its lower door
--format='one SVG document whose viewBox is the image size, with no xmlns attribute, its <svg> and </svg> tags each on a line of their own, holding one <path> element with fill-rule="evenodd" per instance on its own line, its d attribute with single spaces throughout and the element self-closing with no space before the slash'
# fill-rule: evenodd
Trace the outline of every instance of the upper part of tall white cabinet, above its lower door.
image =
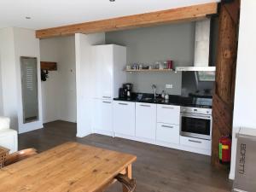
<svg viewBox="0 0 256 192">
<path fill-rule="evenodd" d="M 93 90 L 96 99 L 118 96 L 125 83 L 126 48 L 115 44 L 92 46 Z"/>
</svg>

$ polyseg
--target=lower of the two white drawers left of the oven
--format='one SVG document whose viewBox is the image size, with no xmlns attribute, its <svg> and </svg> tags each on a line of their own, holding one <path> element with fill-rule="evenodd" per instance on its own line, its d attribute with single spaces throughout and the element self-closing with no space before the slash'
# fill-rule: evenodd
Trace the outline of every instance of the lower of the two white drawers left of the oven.
<svg viewBox="0 0 256 192">
<path fill-rule="evenodd" d="M 179 143 L 179 126 L 158 123 L 156 128 L 156 140 L 166 143 Z"/>
</svg>

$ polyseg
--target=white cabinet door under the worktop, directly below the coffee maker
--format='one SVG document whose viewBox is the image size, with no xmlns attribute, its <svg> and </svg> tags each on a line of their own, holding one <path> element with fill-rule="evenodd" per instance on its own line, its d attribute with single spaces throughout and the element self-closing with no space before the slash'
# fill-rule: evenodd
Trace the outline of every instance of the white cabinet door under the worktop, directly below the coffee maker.
<svg viewBox="0 0 256 192">
<path fill-rule="evenodd" d="M 135 102 L 113 101 L 113 131 L 135 136 Z"/>
</svg>

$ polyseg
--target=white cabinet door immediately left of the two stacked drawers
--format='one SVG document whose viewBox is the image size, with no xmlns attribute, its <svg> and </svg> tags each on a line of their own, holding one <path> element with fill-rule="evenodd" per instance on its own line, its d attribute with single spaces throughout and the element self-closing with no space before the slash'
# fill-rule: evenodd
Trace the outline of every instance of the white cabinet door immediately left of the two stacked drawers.
<svg viewBox="0 0 256 192">
<path fill-rule="evenodd" d="M 136 137 L 155 139 L 156 104 L 136 103 Z"/>
</svg>

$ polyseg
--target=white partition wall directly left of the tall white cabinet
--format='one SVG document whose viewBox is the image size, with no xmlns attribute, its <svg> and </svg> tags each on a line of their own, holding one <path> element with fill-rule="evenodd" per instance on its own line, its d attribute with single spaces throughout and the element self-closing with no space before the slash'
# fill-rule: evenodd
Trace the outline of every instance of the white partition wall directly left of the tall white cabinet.
<svg viewBox="0 0 256 192">
<path fill-rule="evenodd" d="M 75 34 L 77 83 L 77 137 L 89 135 L 92 115 L 90 46 L 105 44 L 105 33 Z"/>
</svg>

